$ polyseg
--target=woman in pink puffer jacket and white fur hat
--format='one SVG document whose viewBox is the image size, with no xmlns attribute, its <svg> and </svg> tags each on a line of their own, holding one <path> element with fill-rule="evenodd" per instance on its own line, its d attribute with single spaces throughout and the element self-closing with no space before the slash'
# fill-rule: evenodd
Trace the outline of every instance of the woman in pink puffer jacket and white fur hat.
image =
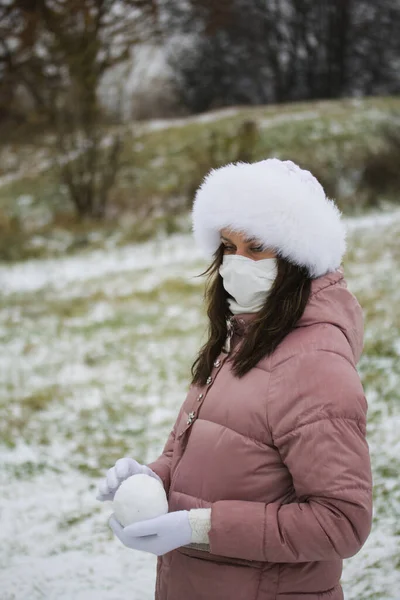
<svg viewBox="0 0 400 600">
<path fill-rule="evenodd" d="M 152 552 L 156 600 L 340 600 L 342 561 L 371 528 L 362 310 L 341 261 L 340 212 L 309 173 L 268 159 L 213 170 L 193 206 L 209 339 L 149 465 L 169 513 L 123 529 Z"/>
</svg>

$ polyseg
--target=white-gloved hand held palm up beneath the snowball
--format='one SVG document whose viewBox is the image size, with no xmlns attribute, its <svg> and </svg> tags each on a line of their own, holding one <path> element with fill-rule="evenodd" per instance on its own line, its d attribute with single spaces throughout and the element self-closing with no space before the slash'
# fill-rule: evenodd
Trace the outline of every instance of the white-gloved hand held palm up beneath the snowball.
<svg viewBox="0 0 400 600">
<path fill-rule="evenodd" d="M 128 548 L 160 556 L 186 546 L 192 540 L 189 511 L 178 510 L 155 519 L 139 521 L 122 527 L 114 515 L 109 525 L 117 538 Z"/>
</svg>

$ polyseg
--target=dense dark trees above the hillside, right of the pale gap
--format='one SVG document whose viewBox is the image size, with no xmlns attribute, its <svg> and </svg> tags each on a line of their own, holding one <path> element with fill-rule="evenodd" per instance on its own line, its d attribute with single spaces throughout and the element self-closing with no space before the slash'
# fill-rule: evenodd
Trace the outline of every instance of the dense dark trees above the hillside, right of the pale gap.
<svg viewBox="0 0 400 600">
<path fill-rule="evenodd" d="M 167 12 L 191 111 L 400 91 L 398 0 L 186 0 Z"/>
</svg>

